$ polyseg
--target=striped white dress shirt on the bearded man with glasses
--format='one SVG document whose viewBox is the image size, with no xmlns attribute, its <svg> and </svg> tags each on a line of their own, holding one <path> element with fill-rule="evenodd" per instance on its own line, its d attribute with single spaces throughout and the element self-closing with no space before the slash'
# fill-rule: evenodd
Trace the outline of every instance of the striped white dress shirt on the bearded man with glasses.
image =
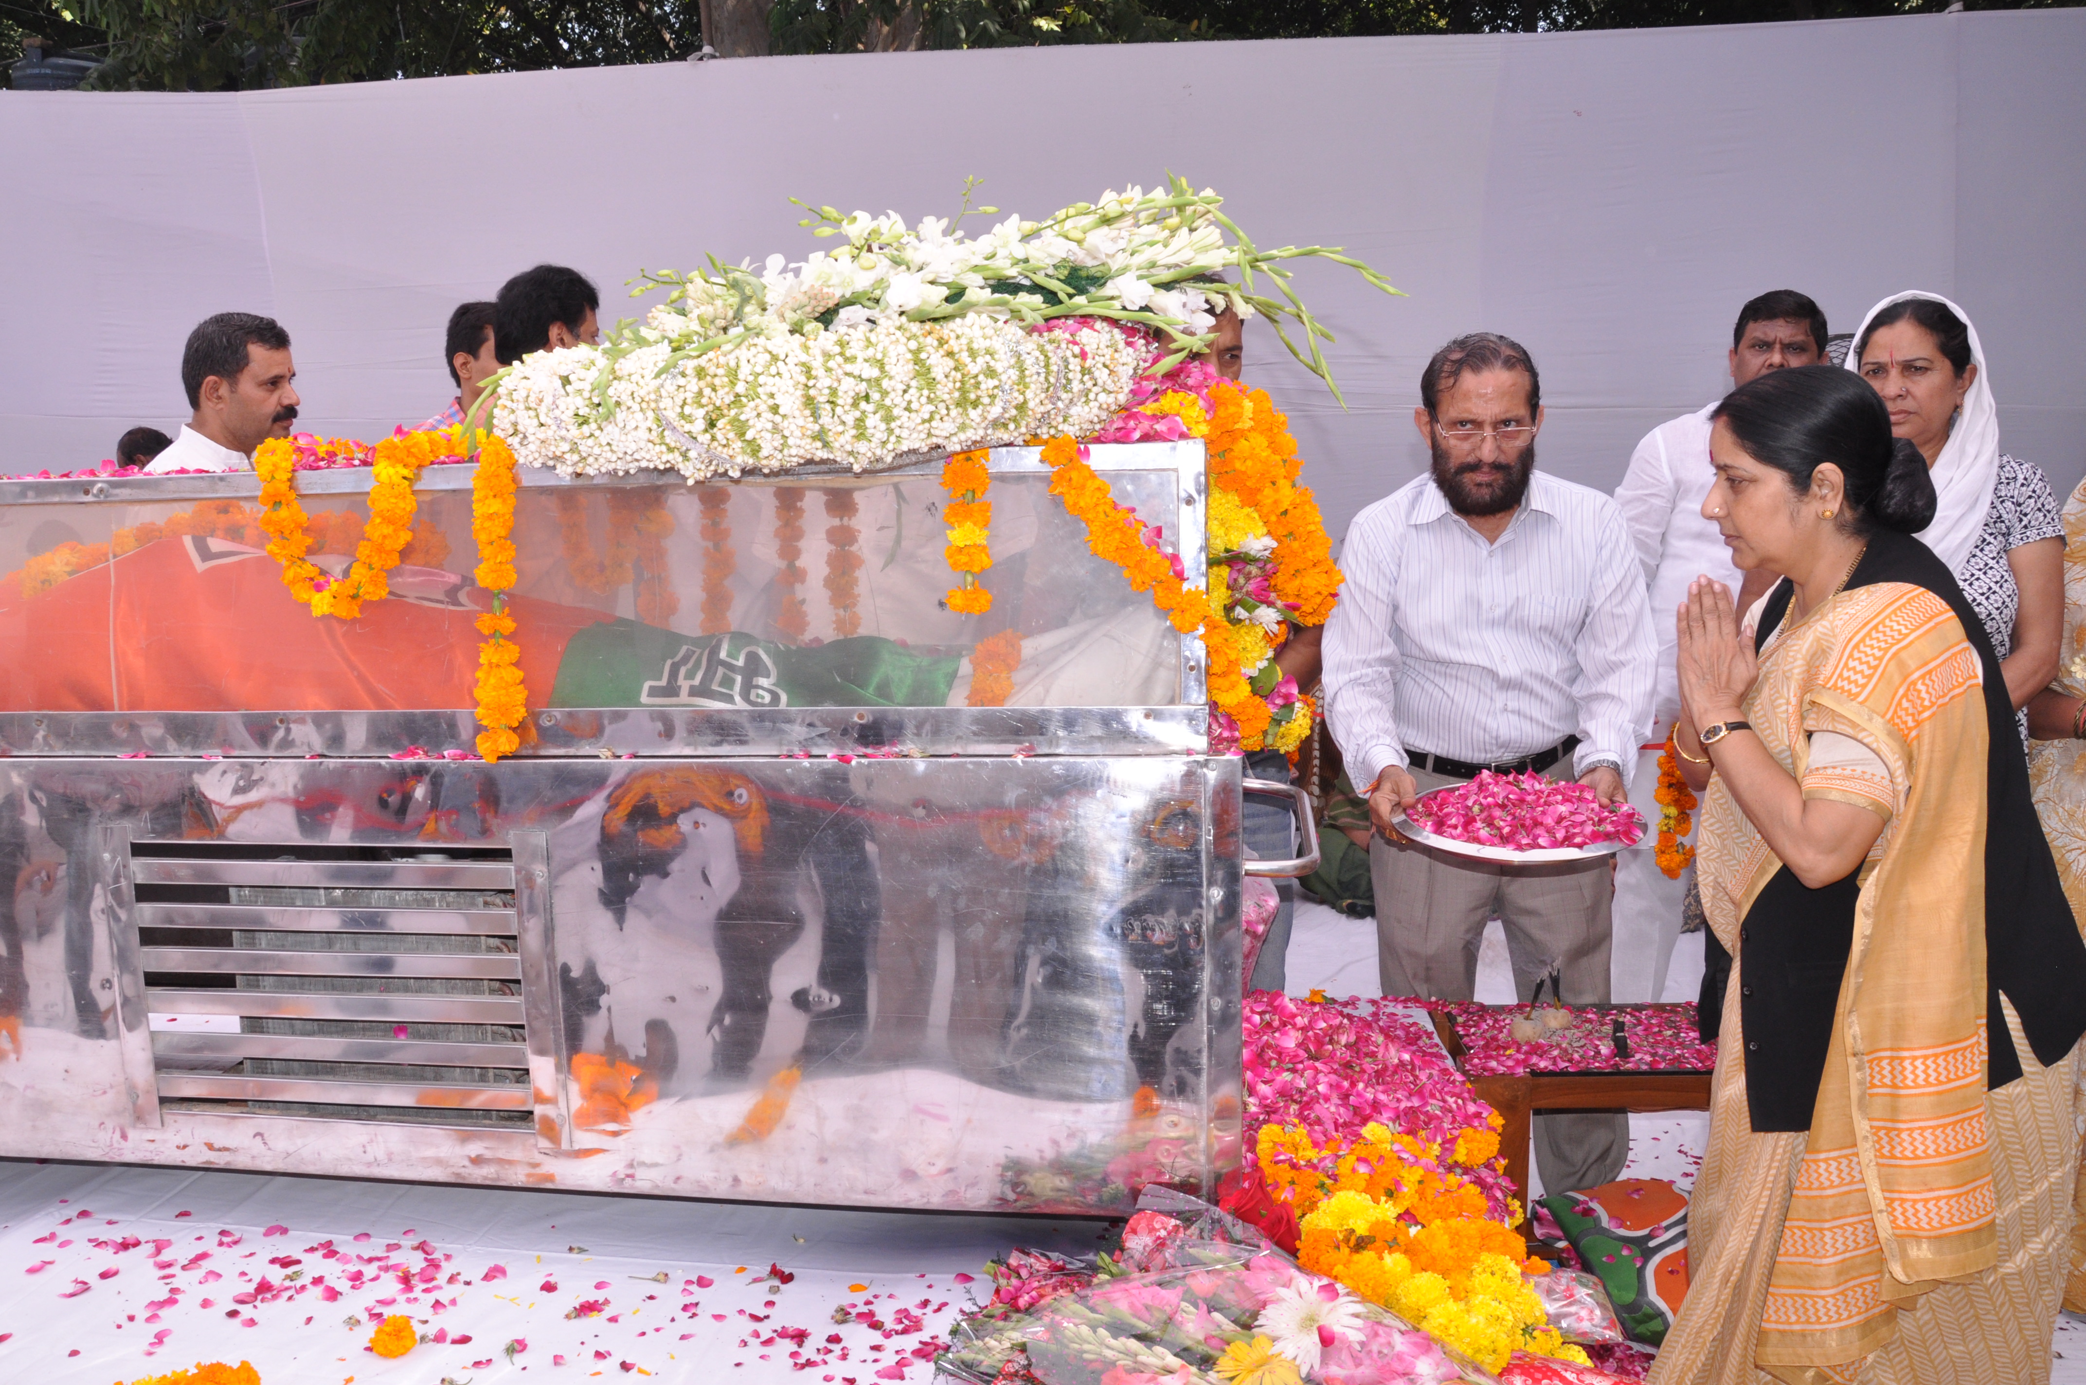
<svg viewBox="0 0 2086 1385">
<path fill-rule="evenodd" d="M 1577 734 L 1573 770 L 1638 763 L 1658 640 L 1615 501 L 1544 471 L 1498 542 L 1433 476 L 1348 528 L 1325 715 L 1368 791 L 1408 751 L 1504 763 Z"/>
</svg>

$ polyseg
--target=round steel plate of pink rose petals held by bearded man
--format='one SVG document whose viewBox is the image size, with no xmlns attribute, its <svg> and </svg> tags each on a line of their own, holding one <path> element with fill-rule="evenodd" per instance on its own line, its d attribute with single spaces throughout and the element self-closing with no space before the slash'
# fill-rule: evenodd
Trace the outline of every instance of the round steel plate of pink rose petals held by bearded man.
<svg viewBox="0 0 2086 1385">
<path fill-rule="evenodd" d="M 1398 830 L 1437 851 L 1535 866 L 1633 847 L 1644 818 L 1627 803 L 1602 807 L 1585 784 L 1485 770 L 1469 784 L 1423 793 Z"/>
</svg>

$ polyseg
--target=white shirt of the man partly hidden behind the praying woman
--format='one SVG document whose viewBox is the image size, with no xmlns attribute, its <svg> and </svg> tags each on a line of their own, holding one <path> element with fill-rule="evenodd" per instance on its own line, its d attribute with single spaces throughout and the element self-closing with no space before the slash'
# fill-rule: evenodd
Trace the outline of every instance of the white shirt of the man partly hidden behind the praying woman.
<svg viewBox="0 0 2086 1385">
<path fill-rule="evenodd" d="M 1673 613 L 1688 601 L 1688 584 L 1711 576 L 1738 592 L 1744 580 L 1731 565 L 1717 526 L 1702 517 L 1702 499 L 1717 473 L 1708 465 L 1708 415 L 1717 405 L 1683 413 L 1644 434 L 1629 455 L 1629 471 L 1615 488 L 1629 538 L 1644 563 L 1644 584 L 1652 592 L 1652 630 L 1658 632 L 1656 726 L 1671 726 L 1681 713 L 1681 684 L 1675 672 L 1677 636 Z"/>
</svg>

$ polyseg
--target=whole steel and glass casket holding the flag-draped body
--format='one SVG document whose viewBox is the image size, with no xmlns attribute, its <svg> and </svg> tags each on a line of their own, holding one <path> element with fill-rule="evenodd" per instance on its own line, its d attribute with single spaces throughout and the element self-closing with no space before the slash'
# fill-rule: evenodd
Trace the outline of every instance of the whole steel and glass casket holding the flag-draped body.
<svg viewBox="0 0 2086 1385">
<path fill-rule="evenodd" d="M 1035 448 L 989 465 L 983 615 L 947 609 L 937 465 L 524 471 L 499 763 L 469 465 L 421 473 L 346 622 L 261 553 L 250 473 L 0 482 L 0 1156 L 1062 1212 L 1214 1185 L 1241 761 L 1206 753 L 1199 640 Z M 1199 442 L 1093 465 L 1202 572 Z M 298 473 L 321 567 L 369 482 Z"/>
</svg>

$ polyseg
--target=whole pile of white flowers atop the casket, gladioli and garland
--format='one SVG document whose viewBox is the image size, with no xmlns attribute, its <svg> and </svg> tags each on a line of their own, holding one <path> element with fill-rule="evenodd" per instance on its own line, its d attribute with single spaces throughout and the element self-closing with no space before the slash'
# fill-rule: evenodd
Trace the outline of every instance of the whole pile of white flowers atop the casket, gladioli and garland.
<svg viewBox="0 0 2086 1385">
<path fill-rule="evenodd" d="M 968 196 L 968 194 L 966 194 Z M 968 202 L 966 202 L 968 204 Z M 522 461 L 567 476 L 674 469 L 688 478 L 839 463 L 889 467 L 1033 436 L 1089 436 L 1129 398 L 1149 346 L 1078 319 L 1156 317 L 1179 361 L 1214 313 L 1256 309 L 1325 332 L 1252 284 L 1323 246 L 1229 246 L 1220 198 L 1183 181 L 1106 192 L 1045 221 L 1008 217 L 978 238 L 955 221 L 818 209 L 824 246 L 690 275 L 601 348 L 544 350 L 501 380 L 494 423 Z M 997 215 L 997 213 L 993 213 Z M 1220 282 L 1224 271 L 1237 282 Z M 926 321 L 912 321 L 918 315 Z M 1039 330 L 1060 319 L 1051 330 Z M 1331 384 L 1331 380 L 1327 380 Z M 1335 392 L 1337 394 L 1337 392 Z"/>
</svg>

